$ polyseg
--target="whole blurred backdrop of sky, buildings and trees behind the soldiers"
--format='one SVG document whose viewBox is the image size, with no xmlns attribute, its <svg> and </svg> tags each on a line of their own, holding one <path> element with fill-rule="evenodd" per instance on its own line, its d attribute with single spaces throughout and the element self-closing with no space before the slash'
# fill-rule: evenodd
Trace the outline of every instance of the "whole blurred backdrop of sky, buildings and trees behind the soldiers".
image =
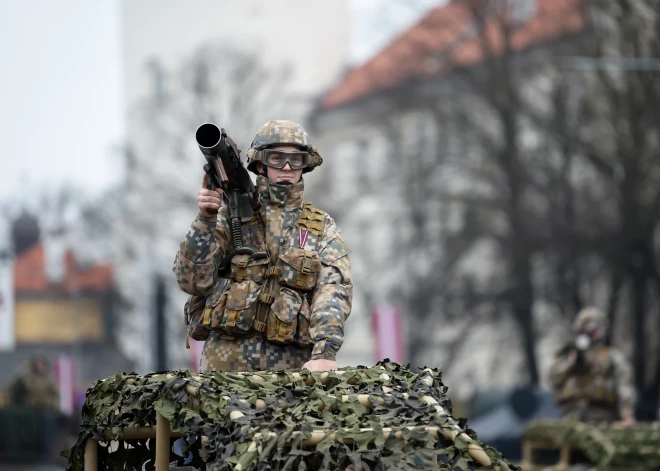
<svg viewBox="0 0 660 471">
<path fill-rule="evenodd" d="M 209 121 L 244 150 L 298 121 L 323 155 L 340 367 L 439 367 L 516 450 L 596 306 L 657 420 L 657 0 L 0 0 L 0 67 L 0 470 L 61 466 L 94 380 L 197 368 L 171 267 Z M 35 375 L 54 395 L 16 404 Z"/>
</svg>

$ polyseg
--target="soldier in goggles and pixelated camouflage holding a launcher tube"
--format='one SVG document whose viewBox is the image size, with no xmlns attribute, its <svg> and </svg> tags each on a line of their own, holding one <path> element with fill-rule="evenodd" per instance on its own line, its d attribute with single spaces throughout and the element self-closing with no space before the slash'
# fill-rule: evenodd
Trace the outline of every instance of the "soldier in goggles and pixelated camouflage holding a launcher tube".
<svg viewBox="0 0 660 471">
<path fill-rule="evenodd" d="M 303 202 L 302 175 L 323 159 L 302 126 L 281 120 L 261 126 L 247 156 L 261 207 L 242 224 L 243 243 L 268 256 L 235 255 L 228 273 L 218 273 L 231 226 L 222 191 L 204 179 L 174 261 L 179 286 L 192 295 L 189 333 L 206 339 L 200 370 L 335 370 L 353 282 L 334 220 Z"/>
</svg>

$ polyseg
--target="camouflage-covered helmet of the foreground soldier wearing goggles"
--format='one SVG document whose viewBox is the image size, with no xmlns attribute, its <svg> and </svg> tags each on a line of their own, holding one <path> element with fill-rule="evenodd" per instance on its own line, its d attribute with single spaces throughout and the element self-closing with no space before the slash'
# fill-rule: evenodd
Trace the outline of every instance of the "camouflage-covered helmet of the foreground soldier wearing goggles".
<svg viewBox="0 0 660 471">
<path fill-rule="evenodd" d="M 307 132 L 303 127 L 293 121 L 272 120 L 261 126 L 254 136 L 247 152 L 248 170 L 257 172 L 257 162 L 263 161 L 263 150 L 278 144 L 288 144 L 309 152 L 310 164 L 303 169 L 303 173 L 311 172 L 323 163 L 318 150 L 312 147 Z"/>
</svg>

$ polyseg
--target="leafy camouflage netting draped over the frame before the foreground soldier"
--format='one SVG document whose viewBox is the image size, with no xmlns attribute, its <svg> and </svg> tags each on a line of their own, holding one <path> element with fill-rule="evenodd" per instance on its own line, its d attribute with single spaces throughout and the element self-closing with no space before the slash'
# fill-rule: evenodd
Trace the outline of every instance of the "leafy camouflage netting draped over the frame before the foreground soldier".
<svg viewBox="0 0 660 471">
<path fill-rule="evenodd" d="M 100 441 L 99 469 L 141 469 L 151 458 L 154 440 L 130 446 L 119 442 L 110 452 L 111 441 L 126 430 L 154 425 L 157 413 L 186 435 L 180 454 L 192 461 L 172 452 L 178 465 L 206 462 L 212 470 L 344 470 L 350 465 L 519 469 L 451 416 L 446 390 L 438 370 L 417 374 L 391 362 L 328 373 L 118 374 L 88 390 L 69 469 L 82 469 L 90 437 Z M 203 446 L 198 436 L 206 437 Z M 152 468 L 149 461 L 145 469 Z"/>
</svg>

